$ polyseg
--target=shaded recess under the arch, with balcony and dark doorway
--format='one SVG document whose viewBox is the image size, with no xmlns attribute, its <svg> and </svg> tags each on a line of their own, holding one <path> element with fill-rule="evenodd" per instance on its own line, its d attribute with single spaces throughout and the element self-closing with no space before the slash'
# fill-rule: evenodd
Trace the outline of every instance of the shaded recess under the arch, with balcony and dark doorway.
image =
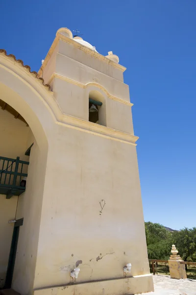
<svg viewBox="0 0 196 295">
<path fill-rule="evenodd" d="M 1 99 L 3 93 L 0 92 L 0 288 L 10 288 L 23 225 L 23 217 L 17 220 L 17 209 L 24 203 L 28 178 L 30 149 L 26 147 L 35 140 L 25 119 Z"/>
</svg>

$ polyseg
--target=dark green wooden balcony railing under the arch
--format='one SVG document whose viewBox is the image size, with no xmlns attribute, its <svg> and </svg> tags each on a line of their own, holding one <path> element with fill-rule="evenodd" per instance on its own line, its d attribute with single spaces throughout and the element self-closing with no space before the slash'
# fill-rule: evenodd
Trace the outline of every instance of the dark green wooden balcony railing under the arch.
<svg viewBox="0 0 196 295">
<path fill-rule="evenodd" d="M 0 157 L 0 194 L 7 199 L 19 196 L 25 191 L 25 177 L 29 162 Z"/>
</svg>

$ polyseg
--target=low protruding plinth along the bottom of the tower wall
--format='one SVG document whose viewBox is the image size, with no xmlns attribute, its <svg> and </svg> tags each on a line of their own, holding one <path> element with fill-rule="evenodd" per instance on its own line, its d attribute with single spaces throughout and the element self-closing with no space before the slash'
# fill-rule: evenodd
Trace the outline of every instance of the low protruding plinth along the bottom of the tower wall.
<svg viewBox="0 0 196 295">
<path fill-rule="evenodd" d="M 80 283 L 34 290 L 34 295 L 132 295 L 154 291 L 152 275 Z"/>
</svg>

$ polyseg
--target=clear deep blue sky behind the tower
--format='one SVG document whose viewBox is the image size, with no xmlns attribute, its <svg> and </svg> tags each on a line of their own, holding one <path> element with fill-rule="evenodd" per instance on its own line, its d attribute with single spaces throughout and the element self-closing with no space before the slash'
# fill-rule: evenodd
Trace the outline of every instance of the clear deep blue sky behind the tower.
<svg viewBox="0 0 196 295">
<path fill-rule="evenodd" d="M 127 67 L 146 221 L 196 226 L 196 1 L 10 0 L 0 48 L 38 71 L 57 29 Z"/>
</svg>

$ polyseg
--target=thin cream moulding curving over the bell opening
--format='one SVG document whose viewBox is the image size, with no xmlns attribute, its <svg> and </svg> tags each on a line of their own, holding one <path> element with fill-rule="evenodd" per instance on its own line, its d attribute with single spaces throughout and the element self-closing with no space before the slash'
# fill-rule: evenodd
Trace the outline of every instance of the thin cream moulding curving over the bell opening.
<svg viewBox="0 0 196 295">
<path fill-rule="evenodd" d="M 131 102 L 129 102 L 129 101 L 126 101 L 126 100 L 123 100 L 123 99 L 121 99 L 121 98 L 119 98 L 119 97 L 117 97 L 117 96 L 114 96 L 114 95 L 110 94 L 110 93 L 109 93 L 109 92 L 108 92 L 103 86 L 101 86 L 101 85 L 98 84 L 98 83 L 90 82 L 90 83 L 87 83 L 87 84 L 82 84 L 82 83 L 77 82 L 77 81 L 75 81 L 75 80 L 72 80 L 72 79 L 70 79 L 70 78 L 67 78 L 67 77 L 61 76 L 61 75 L 59 75 L 59 74 L 57 74 L 57 73 L 53 73 L 53 74 L 51 75 L 51 77 L 50 77 L 48 83 L 50 84 L 51 81 L 52 81 L 54 78 L 59 78 L 59 79 L 61 79 L 61 80 L 67 81 L 67 82 L 69 82 L 69 83 L 72 83 L 72 84 L 77 85 L 77 86 L 79 86 L 79 87 L 81 87 L 81 88 L 84 88 L 84 89 L 87 88 L 87 87 L 89 87 L 89 86 L 96 86 L 96 87 L 98 87 L 99 89 L 101 89 L 102 91 L 104 91 L 104 92 L 106 93 L 106 95 L 107 95 L 110 99 L 117 100 L 117 101 L 119 101 L 119 102 L 121 102 L 121 103 L 123 103 L 123 104 L 126 104 L 126 105 L 130 106 L 130 107 L 133 106 L 133 103 L 131 103 Z"/>
</svg>

